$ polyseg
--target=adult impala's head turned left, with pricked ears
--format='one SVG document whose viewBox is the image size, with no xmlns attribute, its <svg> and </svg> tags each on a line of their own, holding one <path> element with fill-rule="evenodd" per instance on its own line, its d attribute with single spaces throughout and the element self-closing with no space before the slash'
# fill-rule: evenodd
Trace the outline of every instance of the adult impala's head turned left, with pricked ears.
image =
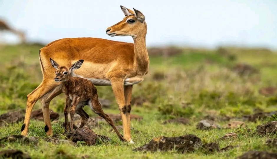
<svg viewBox="0 0 277 159">
<path fill-rule="evenodd" d="M 111 36 L 131 36 L 136 37 L 140 34 L 146 35 L 147 25 L 145 22 L 145 16 L 138 10 L 134 11 L 127 9 L 123 6 L 120 6 L 123 11 L 125 18 L 114 24 L 111 27 L 108 27 L 106 33 Z"/>
</svg>

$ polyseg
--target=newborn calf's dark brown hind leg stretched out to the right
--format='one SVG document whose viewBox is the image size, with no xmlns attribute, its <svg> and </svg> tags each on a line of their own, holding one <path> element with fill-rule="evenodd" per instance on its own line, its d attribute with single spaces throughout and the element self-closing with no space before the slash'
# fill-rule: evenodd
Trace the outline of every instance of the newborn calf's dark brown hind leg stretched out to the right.
<svg viewBox="0 0 277 159">
<path fill-rule="evenodd" d="M 113 120 L 102 110 L 97 94 L 94 95 L 94 97 L 90 100 L 89 106 L 95 114 L 99 115 L 100 117 L 103 117 L 106 120 L 106 122 L 108 122 L 111 125 L 111 127 L 113 127 L 113 130 L 116 132 L 121 141 L 125 141 L 122 135 L 118 132 Z"/>
</svg>

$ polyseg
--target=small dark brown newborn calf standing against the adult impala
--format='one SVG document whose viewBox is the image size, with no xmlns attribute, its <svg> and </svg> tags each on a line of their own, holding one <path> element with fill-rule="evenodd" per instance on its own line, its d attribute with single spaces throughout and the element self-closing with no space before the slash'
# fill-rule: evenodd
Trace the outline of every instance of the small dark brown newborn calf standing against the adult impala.
<svg viewBox="0 0 277 159">
<path fill-rule="evenodd" d="M 82 118 L 81 125 L 79 128 L 83 127 L 88 121 L 89 115 L 83 110 L 85 105 L 89 105 L 90 109 L 103 117 L 116 132 L 121 141 L 123 141 L 122 135 L 116 129 L 113 120 L 105 114 L 101 108 L 98 101 L 98 94 L 96 87 L 89 81 L 80 77 L 71 77 L 70 73 L 81 67 L 84 60 L 79 60 L 75 62 L 70 68 L 65 66 L 59 66 L 57 62 L 50 58 L 52 66 L 56 69 L 56 82 L 62 82 L 62 91 L 66 95 L 66 104 L 64 108 L 65 114 L 65 131 L 68 131 L 67 117 L 68 112 L 70 114 L 70 131 L 73 130 L 73 117 L 75 112 L 79 114 Z"/>
</svg>

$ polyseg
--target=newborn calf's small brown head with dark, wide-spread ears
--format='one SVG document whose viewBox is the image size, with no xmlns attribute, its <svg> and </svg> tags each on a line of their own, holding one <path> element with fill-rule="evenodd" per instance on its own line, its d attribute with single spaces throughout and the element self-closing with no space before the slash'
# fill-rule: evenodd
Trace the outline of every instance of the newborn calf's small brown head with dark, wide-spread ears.
<svg viewBox="0 0 277 159">
<path fill-rule="evenodd" d="M 60 82 L 60 81 L 68 80 L 70 78 L 71 71 L 80 68 L 84 60 L 79 60 L 70 67 L 60 66 L 56 61 L 52 60 L 51 58 L 50 58 L 50 62 L 52 66 L 56 69 L 56 77 L 54 79 L 56 82 Z"/>
</svg>

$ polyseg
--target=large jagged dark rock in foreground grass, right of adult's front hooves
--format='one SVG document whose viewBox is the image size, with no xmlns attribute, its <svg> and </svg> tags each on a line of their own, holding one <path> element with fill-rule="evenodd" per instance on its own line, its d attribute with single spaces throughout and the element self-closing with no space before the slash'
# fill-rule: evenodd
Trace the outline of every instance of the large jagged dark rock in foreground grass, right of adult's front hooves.
<svg viewBox="0 0 277 159">
<path fill-rule="evenodd" d="M 133 149 L 133 151 L 170 151 L 177 150 L 181 153 L 192 152 L 202 145 L 201 139 L 195 135 L 183 135 L 178 137 L 160 136 L 153 138 L 148 144 Z"/>
</svg>

